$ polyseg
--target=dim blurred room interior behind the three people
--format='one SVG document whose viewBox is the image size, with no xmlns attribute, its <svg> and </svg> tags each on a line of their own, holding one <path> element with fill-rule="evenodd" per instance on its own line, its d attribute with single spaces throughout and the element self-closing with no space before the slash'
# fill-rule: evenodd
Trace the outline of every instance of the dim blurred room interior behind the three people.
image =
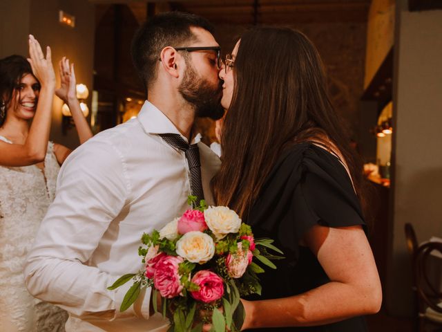
<svg viewBox="0 0 442 332">
<path fill-rule="evenodd" d="M 78 95 L 97 133 L 140 111 L 145 95 L 131 38 L 142 22 L 170 10 L 209 19 L 223 54 L 255 25 L 296 28 L 314 42 L 377 198 L 370 241 L 384 299 L 370 329 L 412 331 L 417 297 L 404 226 L 413 226 L 418 243 L 442 237 L 442 1 L 1 0 L 0 57 L 27 55 L 30 33 L 51 46 L 54 64 L 69 57 L 77 83 L 86 86 Z M 51 140 L 75 148 L 62 106 L 55 98 Z M 199 119 L 198 126 L 204 142 L 215 140 L 211 120 Z M 436 279 L 442 288 L 442 258 Z"/>
</svg>

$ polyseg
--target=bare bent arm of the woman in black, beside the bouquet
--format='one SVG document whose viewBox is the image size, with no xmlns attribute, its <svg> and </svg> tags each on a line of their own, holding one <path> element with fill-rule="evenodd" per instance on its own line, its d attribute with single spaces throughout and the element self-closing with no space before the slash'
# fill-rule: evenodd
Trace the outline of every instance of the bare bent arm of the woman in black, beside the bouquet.
<svg viewBox="0 0 442 332">
<path fill-rule="evenodd" d="M 246 318 L 242 329 L 328 324 L 379 311 L 381 282 L 361 226 L 316 225 L 307 232 L 305 242 L 331 281 L 282 299 L 243 300 Z"/>
</svg>

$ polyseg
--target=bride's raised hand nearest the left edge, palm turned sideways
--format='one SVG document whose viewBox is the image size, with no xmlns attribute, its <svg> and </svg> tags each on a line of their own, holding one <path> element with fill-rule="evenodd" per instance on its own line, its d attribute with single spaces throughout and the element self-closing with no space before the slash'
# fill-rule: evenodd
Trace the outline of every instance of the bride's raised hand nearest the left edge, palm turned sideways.
<svg viewBox="0 0 442 332">
<path fill-rule="evenodd" d="M 30 59 L 28 59 L 28 62 L 32 67 L 32 73 L 39 80 L 41 87 L 48 86 L 49 88 L 54 88 L 55 72 L 52 66 L 50 47 L 46 46 L 45 57 L 37 39 L 29 35 L 29 55 Z"/>
</svg>

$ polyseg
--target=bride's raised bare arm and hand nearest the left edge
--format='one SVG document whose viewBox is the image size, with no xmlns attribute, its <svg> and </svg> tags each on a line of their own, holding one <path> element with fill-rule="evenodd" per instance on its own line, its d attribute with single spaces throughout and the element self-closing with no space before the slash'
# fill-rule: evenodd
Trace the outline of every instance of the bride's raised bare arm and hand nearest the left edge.
<svg viewBox="0 0 442 332">
<path fill-rule="evenodd" d="M 39 42 L 29 36 L 29 54 L 32 72 L 39 80 L 41 89 L 34 120 L 29 129 L 26 142 L 8 144 L 0 141 L 0 165 L 28 166 L 39 163 L 46 156 L 52 113 L 52 98 L 55 90 L 55 73 L 49 46 L 46 48 L 46 58 Z"/>
</svg>

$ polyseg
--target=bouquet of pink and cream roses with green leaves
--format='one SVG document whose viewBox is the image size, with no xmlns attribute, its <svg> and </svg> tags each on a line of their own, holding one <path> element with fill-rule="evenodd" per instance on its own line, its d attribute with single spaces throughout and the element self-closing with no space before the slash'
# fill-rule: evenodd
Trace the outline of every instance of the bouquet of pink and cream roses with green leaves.
<svg viewBox="0 0 442 332">
<path fill-rule="evenodd" d="M 144 287 L 152 288 L 153 308 L 171 322 L 169 331 L 240 331 L 244 308 L 240 297 L 261 294 L 258 279 L 264 269 L 276 268 L 273 259 L 284 257 L 272 239 L 254 239 L 251 227 L 225 206 L 207 207 L 204 201 L 184 212 L 160 231 L 142 235 L 138 254 L 144 270 L 120 277 L 113 290 L 133 279 L 120 311 L 125 311 Z M 161 296 L 161 308 L 157 297 Z"/>
</svg>

